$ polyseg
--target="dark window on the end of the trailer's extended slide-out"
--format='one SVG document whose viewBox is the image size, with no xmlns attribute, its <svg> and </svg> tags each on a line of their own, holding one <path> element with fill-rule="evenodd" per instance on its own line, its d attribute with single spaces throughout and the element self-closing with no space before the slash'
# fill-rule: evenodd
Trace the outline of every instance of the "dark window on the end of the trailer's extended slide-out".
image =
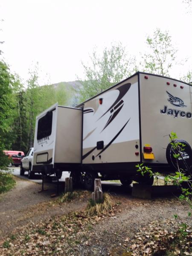
<svg viewBox="0 0 192 256">
<path fill-rule="evenodd" d="M 48 137 L 52 132 L 52 111 L 47 112 L 45 116 L 38 120 L 37 139 Z"/>
</svg>

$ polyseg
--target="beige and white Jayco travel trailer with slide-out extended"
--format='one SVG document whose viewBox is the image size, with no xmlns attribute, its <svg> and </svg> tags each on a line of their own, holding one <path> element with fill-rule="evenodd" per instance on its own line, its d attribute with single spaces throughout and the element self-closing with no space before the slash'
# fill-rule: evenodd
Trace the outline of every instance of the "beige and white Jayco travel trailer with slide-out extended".
<svg viewBox="0 0 192 256">
<path fill-rule="evenodd" d="M 141 177 L 135 165 L 173 172 L 169 134 L 174 131 L 186 145 L 182 154 L 191 166 L 191 129 L 190 84 L 138 72 L 76 108 L 55 105 L 41 113 L 33 169 L 70 171 L 74 183 L 83 181 L 87 189 L 98 175 L 124 185 L 132 180 L 152 184 L 153 178 Z"/>
</svg>

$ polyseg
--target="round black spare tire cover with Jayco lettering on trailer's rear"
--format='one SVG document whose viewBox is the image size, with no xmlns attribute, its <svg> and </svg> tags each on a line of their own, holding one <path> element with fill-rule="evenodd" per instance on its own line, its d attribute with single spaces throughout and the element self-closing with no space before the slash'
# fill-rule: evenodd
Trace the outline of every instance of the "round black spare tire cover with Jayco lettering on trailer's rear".
<svg viewBox="0 0 192 256">
<path fill-rule="evenodd" d="M 184 151 L 182 151 L 182 157 L 186 161 L 187 166 L 190 168 L 192 165 L 192 149 L 189 143 L 187 143 L 185 140 L 176 140 L 176 142 L 180 142 L 185 144 Z M 175 158 L 173 155 L 175 152 L 173 151 L 171 143 L 168 144 L 166 148 L 166 159 L 170 166 L 173 166 L 175 169 L 178 169 L 178 166 L 180 169 L 187 170 L 186 165 L 184 164 L 183 158 L 178 157 Z"/>
</svg>

